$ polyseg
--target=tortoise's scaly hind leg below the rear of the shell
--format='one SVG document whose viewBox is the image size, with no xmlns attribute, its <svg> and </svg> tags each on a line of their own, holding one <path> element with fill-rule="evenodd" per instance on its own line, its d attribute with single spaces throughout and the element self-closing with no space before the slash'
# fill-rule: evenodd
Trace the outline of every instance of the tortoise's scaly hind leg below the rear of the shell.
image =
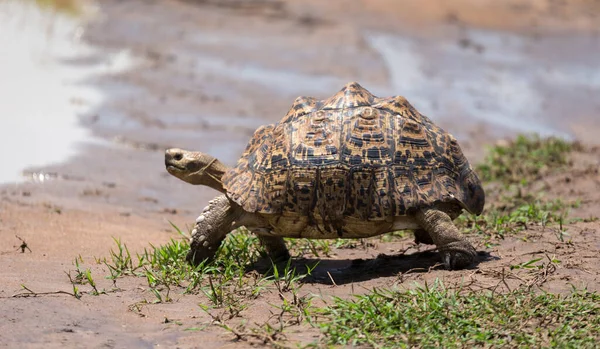
<svg viewBox="0 0 600 349">
<path fill-rule="evenodd" d="M 462 269 L 475 261 L 477 252 L 445 212 L 433 208 L 417 211 L 417 223 L 425 229 L 442 255 L 446 269 Z"/>
</svg>

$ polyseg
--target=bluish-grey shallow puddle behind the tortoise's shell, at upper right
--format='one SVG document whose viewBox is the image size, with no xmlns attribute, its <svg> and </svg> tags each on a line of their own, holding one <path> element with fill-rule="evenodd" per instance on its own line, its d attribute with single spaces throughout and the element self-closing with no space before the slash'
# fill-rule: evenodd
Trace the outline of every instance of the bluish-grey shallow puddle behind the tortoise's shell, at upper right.
<svg viewBox="0 0 600 349">
<path fill-rule="evenodd" d="M 592 36 L 468 30 L 459 41 L 366 37 L 387 65 L 392 90 L 436 119 L 467 117 L 509 132 L 570 139 L 569 123 L 599 108 L 593 96 L 600 93 L 600 45 Z"/>
</svg>

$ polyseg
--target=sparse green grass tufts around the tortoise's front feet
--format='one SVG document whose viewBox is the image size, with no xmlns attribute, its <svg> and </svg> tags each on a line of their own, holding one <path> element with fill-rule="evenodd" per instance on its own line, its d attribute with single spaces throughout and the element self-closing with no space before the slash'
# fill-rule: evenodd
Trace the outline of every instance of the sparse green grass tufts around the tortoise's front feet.
<svg viewBox="0 0 600 349">
<path fill-rule="evenodd" d="M 253 273 L 252 266 L 261 251 L 258 238 L 245 229 L 238 229 L 227 236 L 213 263 L 191 266 L 185 261 L 189 239 L 179 228 L 173 227 L 185 238 L 171 239 L 163 246 L 151 245 L 151 248 L 135 256 L 120 240 L 115 239 L 116 248 L 110 251 L 110 257 L 97 259 L 96 262 L 108 268 L 108 278 L 115 283 L 124 276 L 146 278 L 157 302 L 169 301 L 168 291 L 172 287 L 179 287 L 184 289 L 184 293 L 203 293 L 211 306 L 216 308 L 243 308 L 241 299 L 258 297 L 267 285 L 274 286 L 280 293 L 297 290 L 300 280 L 306 276 L 298 273 L 289 262 L 283 268 L 273 265 L 262 275 Z M 306 266 L 306 269 L 310 273 L 314 266 Z M 81 271 L 79 264 L 77 270 L 77 280 L 86 278 L 89 272 Z"/>
</svg>

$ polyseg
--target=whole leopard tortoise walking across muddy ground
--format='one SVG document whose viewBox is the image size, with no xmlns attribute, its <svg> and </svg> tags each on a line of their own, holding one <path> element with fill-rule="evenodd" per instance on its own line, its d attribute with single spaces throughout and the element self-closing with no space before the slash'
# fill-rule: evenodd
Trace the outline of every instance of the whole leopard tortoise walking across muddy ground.
<svg viewBox="0 0 600 349">
<path fill-rule="evenodd" d="M 356 82 L 333 97 L 298 97 L 259 127 L 233 168 L 201 152 L 169 149 L 167 171 L 222 195 L 196 219 L 187 261 L 211 261 L 245 226 L 274 260 L 283 238 L 365 238 L 413 230 L 447 269 L 476 258 L 453 220 L 479 215 L 485 193 L 456 139 L 404 97 L 378 98 Z"/>
</svg>

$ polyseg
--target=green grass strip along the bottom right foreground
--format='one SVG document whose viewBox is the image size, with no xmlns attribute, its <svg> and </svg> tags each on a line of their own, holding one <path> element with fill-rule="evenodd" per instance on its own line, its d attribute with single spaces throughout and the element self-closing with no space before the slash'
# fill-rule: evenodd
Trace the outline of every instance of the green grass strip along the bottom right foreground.
<svg viewBox="0 0 600 349">
<path fill-rule="evenodd" d="M 592 348 L 600 340 L 600 295 L 376 289 L 319 310 L 328 345 Z"/>
</svg>

